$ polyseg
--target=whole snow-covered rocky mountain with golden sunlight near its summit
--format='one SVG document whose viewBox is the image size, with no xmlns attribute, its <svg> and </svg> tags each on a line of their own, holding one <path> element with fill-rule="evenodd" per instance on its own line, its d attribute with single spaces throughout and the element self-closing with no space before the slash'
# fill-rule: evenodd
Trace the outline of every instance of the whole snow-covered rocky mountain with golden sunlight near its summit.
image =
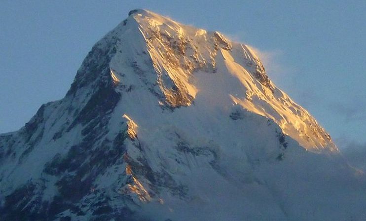
<svg viewBox="0 0 366 221">
<path fill-rule="evenodd" d="M 0 137 L 0 220 L 362 220 L 365 188 L 250 46 L 142 9 Z"/>
</svg>

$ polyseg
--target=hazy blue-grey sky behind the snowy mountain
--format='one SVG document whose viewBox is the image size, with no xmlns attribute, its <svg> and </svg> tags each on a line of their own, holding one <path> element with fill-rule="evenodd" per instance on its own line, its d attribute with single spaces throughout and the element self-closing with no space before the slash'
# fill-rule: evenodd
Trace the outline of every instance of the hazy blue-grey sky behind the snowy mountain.
<svg viewBox="0 0 366 221">
<path fill-rule="evenodd" d="M 93 44 L 135 8 L 255 47 L 340 148 L 366 144 L 365 0 L 1 1 L 0 133 L 61 99 Z"/>
</svg>

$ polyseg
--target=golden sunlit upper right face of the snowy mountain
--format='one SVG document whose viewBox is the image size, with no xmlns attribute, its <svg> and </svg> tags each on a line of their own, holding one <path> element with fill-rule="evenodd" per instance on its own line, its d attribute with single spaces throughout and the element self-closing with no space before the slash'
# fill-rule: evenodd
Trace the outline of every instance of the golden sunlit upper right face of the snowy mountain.
<svg viewBox="0 0 366 221">
<path fill-rule="evenodd" d="M 185 26 L 146 10 L 137 10 L 126 20 L 127 24 L 135 22 L 157 74 L 154 81 L 164 94 L 163 102 L 167 105 L 174 108 L 194 102 L 201 89 L 194 73 L 206 72 L 207 76 L 203 78 L 228 75 L 230 77 L 224 78 L 224 83 L 215 85 L 220 86 L 216 88 L 218 91 L 227 93 L 227 98 L 223 99 L 230 99 L 234 105 L 273 119 L 286 134 L 310 151 L 338 152 L 329 134 L 316 120 L 270 82 L 262 63 L 249 46 L 231 42 L 217 31 Z M 121 41 L 124 40 L 127 39 Z M 118 63 L 123 59 L 117 52 L 111 68 L 118 72 Z M 140 67 L 142 64 L 136 65 Z M 241 85 L 233 87 L 228 80 L 231 77 Z"/>
</svg>

